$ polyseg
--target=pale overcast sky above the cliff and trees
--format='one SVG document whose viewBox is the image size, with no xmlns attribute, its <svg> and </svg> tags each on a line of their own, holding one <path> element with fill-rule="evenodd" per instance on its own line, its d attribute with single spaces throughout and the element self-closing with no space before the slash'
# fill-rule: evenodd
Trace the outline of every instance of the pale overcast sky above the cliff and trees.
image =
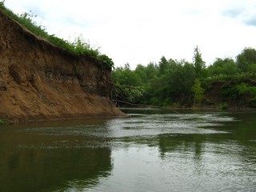
<svg viewBox="0 0 256 192">
<path fill-rule="evenodd" d="M 256 48 L 255 0 L 6 0 L 15 14 L 32 11 L 49 34 L 95 49 L 134 69 L 166 59 L 192 62 L 198 46 L 206 66 Z"/>
</svg>

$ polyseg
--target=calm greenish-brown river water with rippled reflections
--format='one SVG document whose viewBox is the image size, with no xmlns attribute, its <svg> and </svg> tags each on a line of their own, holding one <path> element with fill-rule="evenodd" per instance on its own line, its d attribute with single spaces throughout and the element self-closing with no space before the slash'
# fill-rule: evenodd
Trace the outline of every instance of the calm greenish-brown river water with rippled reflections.
<svg viewBox="0 0 256 192">
<path fill-rule="evenodd" d="M 0 126 L 0 191 L 255 191 L 256 113 Z"/>
</svg>

